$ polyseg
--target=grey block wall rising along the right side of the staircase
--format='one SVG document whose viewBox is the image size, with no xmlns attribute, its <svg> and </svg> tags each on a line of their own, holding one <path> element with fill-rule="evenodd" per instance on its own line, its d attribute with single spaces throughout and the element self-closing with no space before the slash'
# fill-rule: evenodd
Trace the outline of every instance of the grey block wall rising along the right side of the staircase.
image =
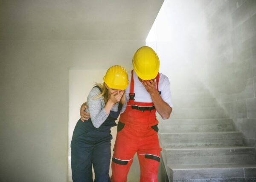
<svg viewBox="0 0 256 182">
<path fill-rule="evenodd" d="M 246 142 L 256 144 L 256 1 L 212 0 L 206 9 L 205 83 L 233 118 Z"/>
</svg>

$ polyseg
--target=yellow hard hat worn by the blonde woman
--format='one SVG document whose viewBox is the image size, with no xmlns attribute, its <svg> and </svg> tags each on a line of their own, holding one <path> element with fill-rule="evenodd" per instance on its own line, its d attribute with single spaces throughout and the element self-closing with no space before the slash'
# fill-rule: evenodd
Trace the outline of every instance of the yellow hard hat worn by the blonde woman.
<svg viewBox="0 0 256 182">
<path fill-rule="evenodd" d="M 119 65 L 111 66 L 103 80 L 111 89 L 125 90 L 129 84 L 127 71 Z"/>
</svg>

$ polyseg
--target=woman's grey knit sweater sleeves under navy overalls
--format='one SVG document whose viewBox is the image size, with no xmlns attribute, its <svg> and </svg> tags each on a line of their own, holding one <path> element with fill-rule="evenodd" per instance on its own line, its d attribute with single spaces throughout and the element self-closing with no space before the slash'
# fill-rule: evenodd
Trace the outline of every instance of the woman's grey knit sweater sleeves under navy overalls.
<svg viewBox="0 0 256 182">
<path fill-rule="evenodd" d="M 94 87 L 88 97 L 87 97 L 87 105 L 88 109 L 85 110 L 87 113 L 90 113 L 90 118 L 92 120 L 93 126 L 96 128 L 99 128 L 102 123 L 108 118 L 109 114 L 106 114 L 105 111 L 105 102 L 103 100 L 103 97 L 95 99 L 99 94 L 100 90 L 97 87 Z M 119 103 L 116 103 L 111 108 L 112 111 L 118 111 L 118 105 Z M 125 111 L 126 104 L 123 105 L 121 113 Z"/>
</svg>

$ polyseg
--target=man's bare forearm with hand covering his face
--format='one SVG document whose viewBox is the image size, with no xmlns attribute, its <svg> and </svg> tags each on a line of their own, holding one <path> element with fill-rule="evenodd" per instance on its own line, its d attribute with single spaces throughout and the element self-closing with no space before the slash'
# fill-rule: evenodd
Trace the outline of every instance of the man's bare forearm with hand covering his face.
<svg viewBox="0 0 256 182">
<path fill-rule="evenodd" d="M 163 101 L 160 94 L 157 92 L 155 79 L 142 80 L 141 83 L 150 94 L 157 113 L 159 113 L 163 119 L 168 119 L 172 113 L 172 107 L 170 107 L 169 104 Z"/>
</svg>

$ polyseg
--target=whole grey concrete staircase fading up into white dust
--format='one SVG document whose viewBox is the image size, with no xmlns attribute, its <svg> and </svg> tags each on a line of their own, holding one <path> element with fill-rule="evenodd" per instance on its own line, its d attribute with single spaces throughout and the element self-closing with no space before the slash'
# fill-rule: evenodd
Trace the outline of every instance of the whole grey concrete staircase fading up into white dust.
<svg viewBox="0 0 256 182">
<path fill-rule="evenodd" d="M 255 148 L 246 145 L 216 99 L 196 84 L 172 97 L 171 118 L 159 121 L 169 182 L 256 182 Z"/>
</svg>

